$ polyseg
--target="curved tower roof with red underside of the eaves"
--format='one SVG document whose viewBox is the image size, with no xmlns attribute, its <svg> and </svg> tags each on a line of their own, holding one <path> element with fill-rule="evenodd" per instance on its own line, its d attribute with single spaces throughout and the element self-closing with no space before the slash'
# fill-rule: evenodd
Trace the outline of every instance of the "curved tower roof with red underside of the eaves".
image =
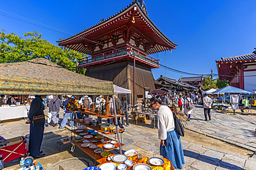
<svg viewBox="0 0 256 170">
<path fill-rule="evenodd" d="M 134 23 L 131 20 L 134 17 Z M 176 44 L 161 32 L 156 25 L 149 19 L 147 13 L 134 1 L 127 8 L 113 14 L 108 19 L 100 21 L 90 28 L 83 30 L 67 39 L 57 41 L 60 46 L 68 47 L 85 54 L 91 54 L 85 43 L 98 43 L 98 39 L 102 36 L 108 36 L 111 32 L 123 29 L 132 29 L 136 34 L 139 34 L 147 41 L 150 41 L 152 47 L 147 51 L 147 54 L 154 54 L 165 50 L 176 48 Z"/>
</svg>

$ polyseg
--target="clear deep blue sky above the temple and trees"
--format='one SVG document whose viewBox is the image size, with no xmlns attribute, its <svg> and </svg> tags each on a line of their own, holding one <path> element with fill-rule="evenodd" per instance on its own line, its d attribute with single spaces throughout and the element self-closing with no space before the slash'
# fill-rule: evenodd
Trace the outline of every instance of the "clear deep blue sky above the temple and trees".
<svg viewBox="0 0 256 170">
<path fill-rule="evenodd" d="M 0 28 L 22 35 L 37 30 L 43 38 L 57 45 L 59 38 L 68 35 L 53 32 L 32 21 L 76 34 L 122 10 L 132 0 L 122 1 L 1 1 Z M 176 50 L 166 52 L 166 65 L 183 72 L 217 74 L 215 60 L 221 57 L 250 54 L 256 47 L 256 1 L 153 1 L 145 0 L 149 18 L 171 41 Z M 8 14 L 6 12 L 12 14 Z M 6 15 L 8 17 L 3 16 Z M 11 19 L 13 17 L 15 19 Z M 40 25 L 46 27 L 44 25 Z M 51 29 L 51 28 L 49 28 Z M 165 52 L 152 55 L 165 65 Z M 154 78 L 165 75 L 165 70 L 152 70 Z M 189 76 L 167 71 L 166 76 L 179 79 Z M 215 77 L 217 78 L 217 77 Z"/>
</svg>

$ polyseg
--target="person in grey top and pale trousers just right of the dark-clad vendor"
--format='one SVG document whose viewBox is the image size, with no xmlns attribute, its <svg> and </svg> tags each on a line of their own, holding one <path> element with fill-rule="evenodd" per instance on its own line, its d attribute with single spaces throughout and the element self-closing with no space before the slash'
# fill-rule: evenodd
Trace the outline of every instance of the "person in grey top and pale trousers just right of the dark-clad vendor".
<svg viewBox="0 0 256 170">
<path fill-rule="evenodd" d="M 54 95 L 53 99 L 50 100 L 50 103 L 49 103 L 49 112 L 51 112 L 51 115 L 52 115 L 53 127 L 57 127 L 59 123 L 60 107 L 64 109 L 60 98 Z"/>
</svg>

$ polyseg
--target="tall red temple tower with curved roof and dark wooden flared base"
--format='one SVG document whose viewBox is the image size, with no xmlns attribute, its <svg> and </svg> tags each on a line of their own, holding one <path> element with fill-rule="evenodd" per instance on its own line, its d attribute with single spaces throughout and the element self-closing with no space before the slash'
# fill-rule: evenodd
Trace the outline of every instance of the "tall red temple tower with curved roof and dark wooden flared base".
<svg viewBox="0 0 256 170">
<path fill-rule="evenodd" d="M 145 97 L 145 88 L 155 89 L 151 70 L 159 67 L 159 60 L 149 54 L 176 48 L 149 19 L 141 0 L 134 0 L 108 19 L 57 43 L 88 55 L 78 65 L 86 68 L 86 76 L 113 81 L 131 89 L 132 94 L 135 89 L 135 98 L 127 98 L 129 103 L 138 95 Z"/>
</svg>

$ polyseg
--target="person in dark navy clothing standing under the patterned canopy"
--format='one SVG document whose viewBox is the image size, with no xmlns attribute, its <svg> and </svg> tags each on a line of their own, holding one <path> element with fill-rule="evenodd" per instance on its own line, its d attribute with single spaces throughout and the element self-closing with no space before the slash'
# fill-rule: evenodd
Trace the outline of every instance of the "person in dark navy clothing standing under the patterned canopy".
<svg viewBox="0 0 256 170">
<path fill-rule="evenodd" d="M 35 158 L 45 156 L 45 153 L 40 151 L 44 136 L 44 123 L 35 124 L 33 122 L 34 116 L 44 115 L 44 105 L 42 101 L 41 96 L 35 96 L 30 105 L 28 115 L 29 120 L 26 122 L 26 124 L 30 124 L 28 152 L 30 153 L 30 156 Z"/>
</svg>

